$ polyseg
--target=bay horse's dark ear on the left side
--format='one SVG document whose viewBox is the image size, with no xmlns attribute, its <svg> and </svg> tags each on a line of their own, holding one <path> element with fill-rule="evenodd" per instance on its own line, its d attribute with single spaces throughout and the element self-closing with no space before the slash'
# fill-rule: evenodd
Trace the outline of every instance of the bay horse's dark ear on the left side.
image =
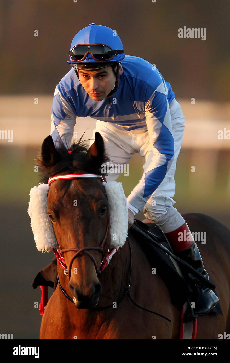
<svg viewBox="0 0 230 363">
<path fill-rule="evenodd" d="M 55 144 L 53 143 L 52 136 L 49 135 L 43 141 L 41 146 L 41 161 L 45 168 L 51 167 L 60 161 L 61 155 L 60 152 L 55 148 Z"/>
</svg>

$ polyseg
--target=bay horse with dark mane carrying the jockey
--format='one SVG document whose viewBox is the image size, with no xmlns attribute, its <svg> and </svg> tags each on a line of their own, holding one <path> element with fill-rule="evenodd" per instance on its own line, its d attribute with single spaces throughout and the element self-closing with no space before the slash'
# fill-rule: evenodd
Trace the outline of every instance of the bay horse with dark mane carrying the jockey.
<svg viewBox="0 0 230 363">
<path fill-rule="evenodd" d="M 100 174 L 101 164 L 108 158 L 102 136 L 96 132 L 89 150 L 80 139 L 70 150 L 56 149 L 48 136 L 37 159 L 43 182 L 63 174 Z M 77 200 L 77 206 L 74 201 Z M 98 274 L 102 261 L 100 248 L 73 258 L 76 250 L 99 247 L 108 231 L 108 201 L 105 188 L 98 178 L 54 181 L 48 191 L 47 212 L 65 263 L 72 273 L 70 280 L 57 265 L 60 285 L 45 308 L 40 339 L 178 339 L 180 311 L 171 302 L 169 290 L 149 262 L 141 244 L 128 232 L 125 244 L 113 256 L 106 269 Z M 218 334 L 230 333 L 230 231 L 211 217 L 196 213 L 183 215 L 191 232 L 206 232 L 207 243 L 199 249 L 209 278 L 217 285 L 223 315 L 207 314 L 197 318 L 197 339 L 218 339 Z M 149 225 L 151 222 L 148 220 Z M 150 229 L 151 231 L 151 229 Z M 125 296 L 130 273 L 132 247 L 132 281 L 130 294 L 138 305 L 167 317 L 151 314 L 135 306 Z M 108 248 L 107 233 L 103 249 Z M 70 249 L 70 250 L 69 250 Z M 96 267 L 95 267 L 96 266 Z M 76 271 L 77 273 L 74 273 Z M 52 279 L 52 277 L 50 277 Z M 56 276 L 53 277 L 56 280 Z M 122 299 L 123 298 L 123 299 Z M 117 303 L 118 301 L 122 301 Z M 110 306 L 108 309 L 98 309 Z"/>
</svg>

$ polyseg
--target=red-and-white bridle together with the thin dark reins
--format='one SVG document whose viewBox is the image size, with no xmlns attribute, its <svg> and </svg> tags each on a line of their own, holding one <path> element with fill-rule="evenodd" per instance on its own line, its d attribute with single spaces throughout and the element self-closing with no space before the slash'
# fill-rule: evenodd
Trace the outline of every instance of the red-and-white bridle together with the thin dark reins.
<svg viewBox="0 0 230 363">
<path fill-rule="evenodd" d="M 48 184 L 50 185 L 55 180 L 75 179 L 75 178 L 100 178 L 102 180 L 102 182 L 104 182 L 104 179 L 102 178 L 101 175 L 96 175 L 96 174 L 69 174 L 69 175 L 58 175 L 58 176 L 55 176 L 53 178 L 49 178 Z M 105 196 L 106 196 L 106 193 L 105 193 Z M 107 239 L 107 236 L 109 237 L 109 249 L 110 249 L 110 216 L 109 216 L 109 210 L 108 210 L 108 214 L 107 214 L 107 228 L 106 228 L 106 233 L 105 233 L 105 237 L 104 237 L 103 241 L 101 242 L 101 246 L 100 247 L 83 247 L 81 249 L 79 249 L 79 248 L 66 248 L 66 249 L 61 249 L 60 251 L 53 249 L 53 252 L 55 253 L 55 256 L 57 257 L 58 264 L 64 269 L 64 274 L 65 275 L 68 275 L 69 280 L 70 280 L 70 277 L 71 277 L 71 269 L 72 269 L 73 261 L 75 260 L 75 258 L 77 256 L 80 255 L 80 253 L 85 253 L 85 254 L 87 254 L 91 258 L 91 260 L 93 261 L 94 267 L 96 269 L 97 276 L 100 275 L 101 271 L 104 270 L 104 268 L 106 266 L 105 262 L 107 262 L 107 265 L 109 263 L 109 259 L 107 259 L 107 261 L 106 261 L 106 257 L 108 257 L 108 253 L 105 256 L 105 252 L 104 252 L 104 245 L 105 245 L 105 241 Z M 117 304 L 120 303 L 122 300 L 124 300 L 124 298 L 128 294 L 128 297 L 130 298 L 130 300 L 132 301 L 132 303 L 135 306 L 139 307 L 142 310 L 148 311 L 149 313 L 156 314 L 156 315 L 158 315 L 158 316 L 166 319 L 167 321 L 171 322 L 171 320 L 168 319 L 168 318 L 166 318 L 166 317 L 164 317 L 164 315 L 158 314 L 158 313 L 156 313 L 155 311 L 152 311 L 152 310 L 145 309 L 144 307 L 138 305 L 135 301 L 133 301 L 133 299 L 132 299 L 132 297 L 130 295 L 131 275 L 132 275 L 132 248 L 131 248 L 131 245 L 130 245 L 130 242 L 129 242 L 129 238 L 127 238 L 127 241 L 128 241 L 129 250 L 130 250 L 130 264 L 129 264 L 129 270 L 130 270 L 130 273 L 129 274 L 130 274 L 130 277 L 129 277 L 129 283 L 126 286 L 125 294 L 124 294 L 124 296 L 119 301 L 117 301 Z M 98 251 L 100 251 L 103 254 L 103 258 L 104 259 L 101 262 L 101 265 L 104 264 L 103 269 L 97 269 L 96 261 L 95 261 L 94 257 L 92 256 L 92 254 L 90 252 L 88 252 L 88 250 L 98 250 Z M 116 250 L 116 252 L 117 252 L 118 248 L 114 248 L 113 250 Z M 69 271 L 68 271 L 67 266 L 66 266 L 65 261 L 64 261 L 64 258 L 62 257 L 61 253 L 71 252 L 71 251 L 77 251 L 77 252 L 73 255 L 73 257 L 70 260 Z M 61 292 L 64 294 L 64 296 L 69 301 L 71 301 L 74 304 L 73 299 L 67 294 L 67 292 L 61 286 L 60 281 L 59 281 L 59 278 L 58 278 L 58 273 L 57 273 L 57 281 L 58 281 L 58 285 L 60 286 Z M 108 309 L 109 307 L 112 307 L 112 306 L 113 306 L 113 304 L 108 305 L 108 306 L 103 306 L 103 307 L 93 307 L 91 309 L 92 310 L 104 310 L 104 309 Z"/>
</svg>

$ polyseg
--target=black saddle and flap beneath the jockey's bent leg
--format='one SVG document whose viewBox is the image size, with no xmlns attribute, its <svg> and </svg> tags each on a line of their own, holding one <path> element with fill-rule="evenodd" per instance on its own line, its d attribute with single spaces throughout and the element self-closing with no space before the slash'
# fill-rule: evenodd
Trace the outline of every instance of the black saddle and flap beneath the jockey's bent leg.
<svg viewBox="0 0 230 363">
<path fill-rule="evenodd" d="M 161 244 L 166 247 L 170 252 L 173 252 L 164 233 L 155 223 L 144 223 L 139 220 L 134 220 L 134 224 L 141 231 L 151 232 L 149 233 L 150 238 L 152 238 L 155 242 L 158 242 L 159 245 Z M 162 280 L 165 282 L 165 285 L 168 287 L 172 303 L 178 307 L 179 311 L 181 311 L 183 306 L 185 306 L 186 310 L 184 311 L 183 321 L 188 322 L 194 320 L 195 317 L 190 301 L 190 296 L 193 290 L 186 281 L 184 273 L 182 273 L 179 269 L 177 262 L 173 261 L 173 258 L 171 258 L 162 249 L 158 248 L 156 244 L 151 243 L 149 238 L 146 239 L 144 236 L 143 238 L 140 238 L 140 234 L 137 234 L 135 229 L 132 229 L 132 227 L 129 231 L 140 244 L 152 266 L 156 268 L 156 274 L 160 275 Z M 216 291 L 213 291 L 217 295 Z M 208 314 L 223 315 L 220 303 L 214 306 Z"/>
</svg>

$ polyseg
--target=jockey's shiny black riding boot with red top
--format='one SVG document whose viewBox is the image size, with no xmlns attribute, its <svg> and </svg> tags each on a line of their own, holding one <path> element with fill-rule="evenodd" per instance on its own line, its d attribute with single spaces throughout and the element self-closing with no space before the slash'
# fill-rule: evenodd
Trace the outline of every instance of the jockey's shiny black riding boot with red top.
<svg viewBox="0 0 230 363">
<path fill-rule="evenodd" d="M 203 266 L 201 254 L 199 253 L 198 247 L 186 222 L 175 231 L 165 233 L 165 236 L 172 250 L 179 258 L 187 262 L 204 277 L 209 279 L 209 276 Z M 186 241 L 178 241 L 178 236 L 186 236 Z M 185 278 L 191 286 L 191 289 L 194 291 L 192 296 L 192 300 L 195 303 L 193 308 L 194 315 L 207 314 L 219 302 L 217 295 L 215 295 L 214 291 L 210 290 L 209 287 L 199 282 L 199 280 L 197 280 L 197 278 L 191 273 L 187 274 L 187 272 L 185 272 Z"/>
</svg>

